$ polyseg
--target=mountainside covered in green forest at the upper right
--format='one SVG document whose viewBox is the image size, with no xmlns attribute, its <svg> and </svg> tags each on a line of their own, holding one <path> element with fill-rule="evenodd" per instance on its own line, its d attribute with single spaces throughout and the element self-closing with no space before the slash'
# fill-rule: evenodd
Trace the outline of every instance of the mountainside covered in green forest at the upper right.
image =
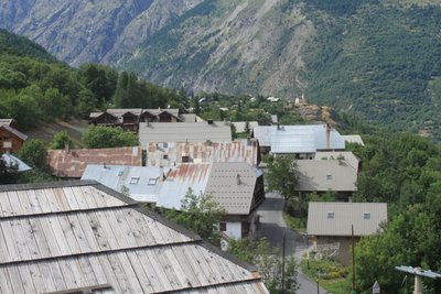
<svg viewBox="0 0 441 294">
<path fill-rule="evenodd" d="M 306 95 L 365 120 L 440 140 L 441 8 L 306 1 Z"/>
</svg>

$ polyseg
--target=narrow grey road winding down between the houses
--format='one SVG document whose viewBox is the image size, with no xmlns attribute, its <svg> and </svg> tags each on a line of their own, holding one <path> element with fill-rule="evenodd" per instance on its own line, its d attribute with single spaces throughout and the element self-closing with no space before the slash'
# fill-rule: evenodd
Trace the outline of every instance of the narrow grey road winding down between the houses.
<svg viewBox="0 0 441 294">
<path fill-rule="evenodd" d="M 266 237 L 271 246 L 282 250 L 283 232 L 286 233 L 286 255 L 295 254 L 295 259 L 300 262 L 303 252 L 306 249 L 306 241 L 295 231 L 287 228 L 284 224 L 282 210 L 283 198 L 277 193 L 267 193 L 267 199 L 259 207 L 260 227 L 259 237 Z M 326 291 L 319 288 L 316 283 L 309 280 L 300 270 L 298 272 L 298 281 L 300 283 L 299 294 L 324 294 Z"/>
</svg>

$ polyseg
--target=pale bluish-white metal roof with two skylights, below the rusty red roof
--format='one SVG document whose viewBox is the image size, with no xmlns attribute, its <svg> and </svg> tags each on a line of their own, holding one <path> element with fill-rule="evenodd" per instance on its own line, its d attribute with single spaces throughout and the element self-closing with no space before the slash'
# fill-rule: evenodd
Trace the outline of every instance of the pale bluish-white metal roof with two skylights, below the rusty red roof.
<svg viewBox="0 0 441 294">
<path fill-rule="evenodd" d="M 89 164 L 82 179 L 95 179 L 141 203 L 157 203 L 163 175 L 169 168 Z"/>
</svg>

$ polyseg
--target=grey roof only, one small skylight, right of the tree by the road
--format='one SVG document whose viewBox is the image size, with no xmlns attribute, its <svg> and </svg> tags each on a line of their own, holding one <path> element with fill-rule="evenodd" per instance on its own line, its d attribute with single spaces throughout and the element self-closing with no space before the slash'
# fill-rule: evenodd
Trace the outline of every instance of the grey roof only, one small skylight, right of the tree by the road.
<svg viewBox="0 0 441 294">
<path fill-rule="evenodd" d="M 346 160 L 346 157 L 344 160 L 337 160 L 336 157 L 323 160 L 316 155 L 315 160 L 298 160 L 297 163 L 299 171 L 298 190 L 357 190 L 358 165 L 355 165 L 353 161 Z"/>
</svg>

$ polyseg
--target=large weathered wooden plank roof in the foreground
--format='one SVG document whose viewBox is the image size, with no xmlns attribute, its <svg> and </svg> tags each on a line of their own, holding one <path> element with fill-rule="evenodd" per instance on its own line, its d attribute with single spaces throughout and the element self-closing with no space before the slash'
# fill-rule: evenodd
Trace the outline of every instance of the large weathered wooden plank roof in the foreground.
<svg viewBox="0 0 441 294">
<path fill-rule="evenodd" d="M 97 182 L 0 186 L 1 293 L 268 293 L 254 268 Z"/>
</svg>

